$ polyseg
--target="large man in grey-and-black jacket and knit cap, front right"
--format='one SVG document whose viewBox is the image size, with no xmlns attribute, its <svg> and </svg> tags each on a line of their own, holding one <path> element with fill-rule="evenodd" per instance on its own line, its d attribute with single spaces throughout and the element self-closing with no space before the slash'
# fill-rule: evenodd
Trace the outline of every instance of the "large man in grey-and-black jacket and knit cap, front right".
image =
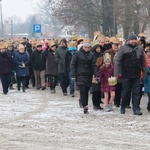
<svg viewBox="0 0 150 150">
<path fill-rule="evenodd" d="M 115 58 L 114 75 L 118 78 L 119 69 L 122 72 L 122 101 L 121 114 L 125 113 L 125 106 L 132 90 L 134 115 L 142 115 L 140 111 L 140 73 L 146 75 L 146 65 L 143 48 L 137 45 L 137 37 L 131 34 L 125 45 L 121 46 Z"/>
</svg>

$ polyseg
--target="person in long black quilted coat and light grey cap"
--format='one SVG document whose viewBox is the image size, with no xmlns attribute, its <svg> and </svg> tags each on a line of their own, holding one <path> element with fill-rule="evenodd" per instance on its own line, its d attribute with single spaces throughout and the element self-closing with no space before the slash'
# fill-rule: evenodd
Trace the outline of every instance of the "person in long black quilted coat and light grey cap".
<svg viewBox="0 0 150 150">
<path fill-rule="evenodd" d="M 71 77 L 79 86 L 83 112 L 88 113 L 88 92 L 93 74 L 97 77 L 97 70 L 90 44 L 83 43 L 83 47 L 75 53 L 71 63 Z"/>
</svg>

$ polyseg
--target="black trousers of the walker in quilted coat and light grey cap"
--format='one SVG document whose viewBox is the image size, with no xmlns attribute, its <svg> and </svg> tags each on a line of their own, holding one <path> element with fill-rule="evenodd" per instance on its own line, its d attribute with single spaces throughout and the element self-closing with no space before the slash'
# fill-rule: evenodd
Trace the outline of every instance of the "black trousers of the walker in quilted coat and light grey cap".
<svg viewBox="0 0 150 150">
<path fill-rule="evenodd" d="M 82 106 L 85 107 L 88 105 L 88 94 L 90 88 L 84 85 L 80 85 L 79 89 L 80 89 L 80 98 L 81 98 Z"/>
</svg>

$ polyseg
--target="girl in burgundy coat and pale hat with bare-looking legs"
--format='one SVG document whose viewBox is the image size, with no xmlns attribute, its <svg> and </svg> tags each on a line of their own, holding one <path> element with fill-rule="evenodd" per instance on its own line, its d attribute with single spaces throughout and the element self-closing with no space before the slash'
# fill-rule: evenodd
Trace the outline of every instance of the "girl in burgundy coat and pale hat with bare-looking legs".
<svg viewBox="0 0 150 150">
<path fill-rule="evenodd" d="M 104 64 L 100 67 L 99 77 L 101 80 L 101 90 L 104 92 L 104 105 L 105 111 L 113 111 L 113 102 L 115 98 L 115 86 L 110 86 L 108 83 L 108 78 L 114 75 L 114 66 L 111 63 L 111 57 L 108 53 L 104 55 Z M 110 101 L 109 99 L 110 93 Z"/>
</svg>

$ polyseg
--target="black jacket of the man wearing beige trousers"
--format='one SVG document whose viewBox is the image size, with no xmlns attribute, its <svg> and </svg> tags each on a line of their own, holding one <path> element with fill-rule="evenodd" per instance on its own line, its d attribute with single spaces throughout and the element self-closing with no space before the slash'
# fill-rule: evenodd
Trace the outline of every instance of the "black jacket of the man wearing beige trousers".
<svg viewBox="0 0 150 150">
<path fill-rule="evenodd" d="M 42 58 L 42 51 L 35 50 L 31 55 L 31 65 L 34 70 L 42 71 L 45 70 L 45 62 Z"/>
</svg>

